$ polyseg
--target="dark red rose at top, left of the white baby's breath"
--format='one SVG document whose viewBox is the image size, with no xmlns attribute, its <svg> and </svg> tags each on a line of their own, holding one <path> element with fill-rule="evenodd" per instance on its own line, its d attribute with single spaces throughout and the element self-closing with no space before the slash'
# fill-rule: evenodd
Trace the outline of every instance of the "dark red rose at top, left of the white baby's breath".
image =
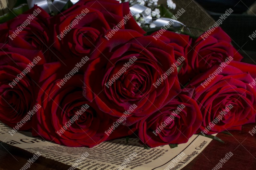
<svg viewBox="0 0 256 170">
<path fill-rule="evenodd" d="M 120 26 L 117 26 L 118 29 L 133 29 L 145 33 L 132 16 L 126 24 L 121 22 L 129 12 L 128 2 L 119 4 L 116 0 L 80 0 L 51 19 L 54 30 L 51 49 L 56 55 L 60 53 L 59 59 L 81 57 L 89 55 L 100 34 L 117 25 Z M 70 27 L 70 24 L 74 26 Z"/>
</svg>

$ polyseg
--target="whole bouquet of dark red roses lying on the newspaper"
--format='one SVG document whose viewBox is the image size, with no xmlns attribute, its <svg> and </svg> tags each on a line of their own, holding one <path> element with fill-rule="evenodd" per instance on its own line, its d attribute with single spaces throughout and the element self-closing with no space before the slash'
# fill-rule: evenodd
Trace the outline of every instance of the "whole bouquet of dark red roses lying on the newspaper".
<svg viewBox="0 0 256 170">
<path fill-rule="evenodd" d="M 135 134 L 156 147 L 255 122 L 256 66 L 241 62 L 229 36 L 212 27 L 194 38 L 172 20 L 158 28 L 163 7 L 145 2 L 153 11 L 80 0 L 50 15 L 34 5 L 0 24 L 0 120 L 9 133 L 72 147 Z"/>
</svg>

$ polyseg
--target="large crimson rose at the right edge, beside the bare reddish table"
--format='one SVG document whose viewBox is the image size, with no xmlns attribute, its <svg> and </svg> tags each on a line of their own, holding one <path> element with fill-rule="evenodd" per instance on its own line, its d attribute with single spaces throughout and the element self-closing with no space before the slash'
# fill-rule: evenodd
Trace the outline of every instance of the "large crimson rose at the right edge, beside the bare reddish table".
<svg viewBox="0 0 256 170">
<path fill-rule="evenodd" d="M 227 65 L 220 69 L 214 65 L 210 70 L 194 78 L 194 98 L 203 115 L 199 131 L 214 134 L 237 129 L 245 123 L 255 122 L 256 87 L 249 84 L 254 79 L 248 73 Z"/>
</svg>

